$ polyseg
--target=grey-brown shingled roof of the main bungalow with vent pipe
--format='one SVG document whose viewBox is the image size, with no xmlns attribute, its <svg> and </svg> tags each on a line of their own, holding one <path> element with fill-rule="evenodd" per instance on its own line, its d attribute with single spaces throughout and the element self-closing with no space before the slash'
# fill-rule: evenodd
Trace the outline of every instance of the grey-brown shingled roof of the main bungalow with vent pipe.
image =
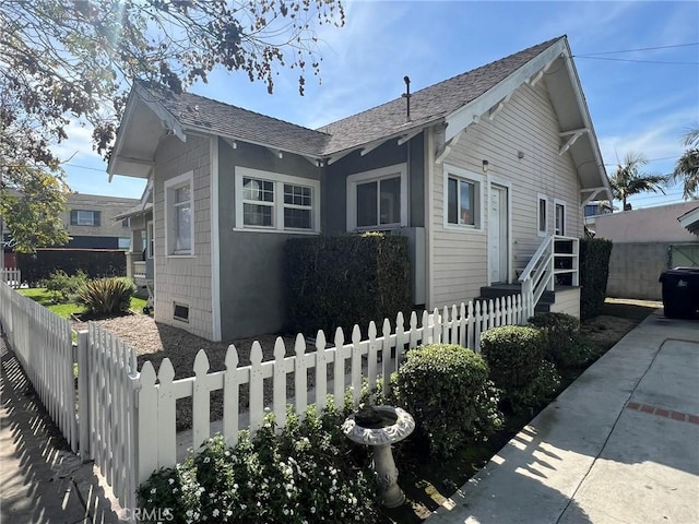
<svg viewBox="0 0 699 524">
<path fill-rule="evenodd" d="M 410 122 L 405 119 L 405 99 L 402 97 L 312 130 L 191 93 L 175 94 L 141 85 L 182 128 L 325 157 L 443 119 L 488 92 L 560 38 L 413 93 Z"/>
</svg>

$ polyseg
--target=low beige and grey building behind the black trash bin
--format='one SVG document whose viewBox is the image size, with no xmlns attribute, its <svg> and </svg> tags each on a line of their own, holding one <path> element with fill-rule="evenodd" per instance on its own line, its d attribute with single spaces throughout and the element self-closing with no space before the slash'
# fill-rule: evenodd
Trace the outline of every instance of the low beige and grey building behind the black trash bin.
<svg viewBox="0 0 699 524">
<path fill-rule="evenodd" d="M 596 238 L 614 242 L 607 294 L 660 300 L 662 271 L 699 266 L 697 229 L 687 227 L 696 211 L 697 202 L 682 202 L 597 216 Z"/>
</svg>

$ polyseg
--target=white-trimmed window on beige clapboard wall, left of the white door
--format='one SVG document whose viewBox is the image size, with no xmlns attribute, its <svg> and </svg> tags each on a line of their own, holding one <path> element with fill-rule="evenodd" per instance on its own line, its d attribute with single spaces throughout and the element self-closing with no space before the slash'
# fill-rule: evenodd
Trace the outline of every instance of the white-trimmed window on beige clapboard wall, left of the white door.
<svg viewBox="0 0 699 524">
<path fill-rule="evenodd" d="M 445 226 L 482 228 L 483 177 L 445 165 Z"/>
</svg>

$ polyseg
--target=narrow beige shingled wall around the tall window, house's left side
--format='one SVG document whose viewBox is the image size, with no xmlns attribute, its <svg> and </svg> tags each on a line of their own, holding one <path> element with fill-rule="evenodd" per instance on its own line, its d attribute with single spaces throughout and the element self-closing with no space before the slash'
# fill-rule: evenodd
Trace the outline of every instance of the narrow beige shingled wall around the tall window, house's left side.
<svg viewBox="0 0 699 524">
<path fill-rule="evenodd" d="M 155 154 L 153 187 L 155 236 L 155 311 L 157 322 L 213 338 L 211 281 L 211 154 L 208 138 L 170 136 Z M 165 247 L 165 190 L 170 178 L 193 171 L 194 255 L 168 255 Z M 189 321 L 173 318 L 174 303 L 189 306 Z M 192 348 L 194 350 L 194 348 Z"/>
</svg>

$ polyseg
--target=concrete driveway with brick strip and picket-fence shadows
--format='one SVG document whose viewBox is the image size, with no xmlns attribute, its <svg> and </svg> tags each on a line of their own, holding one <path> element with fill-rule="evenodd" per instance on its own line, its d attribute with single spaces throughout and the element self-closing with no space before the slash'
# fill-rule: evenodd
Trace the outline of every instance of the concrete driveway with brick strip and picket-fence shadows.
<svg viewBox="0 0 699 524">
<path fill-rule="evenodd" d="M 429 522 L 699 523 L 699 322 L 651 314 Z"/>
</svg>

